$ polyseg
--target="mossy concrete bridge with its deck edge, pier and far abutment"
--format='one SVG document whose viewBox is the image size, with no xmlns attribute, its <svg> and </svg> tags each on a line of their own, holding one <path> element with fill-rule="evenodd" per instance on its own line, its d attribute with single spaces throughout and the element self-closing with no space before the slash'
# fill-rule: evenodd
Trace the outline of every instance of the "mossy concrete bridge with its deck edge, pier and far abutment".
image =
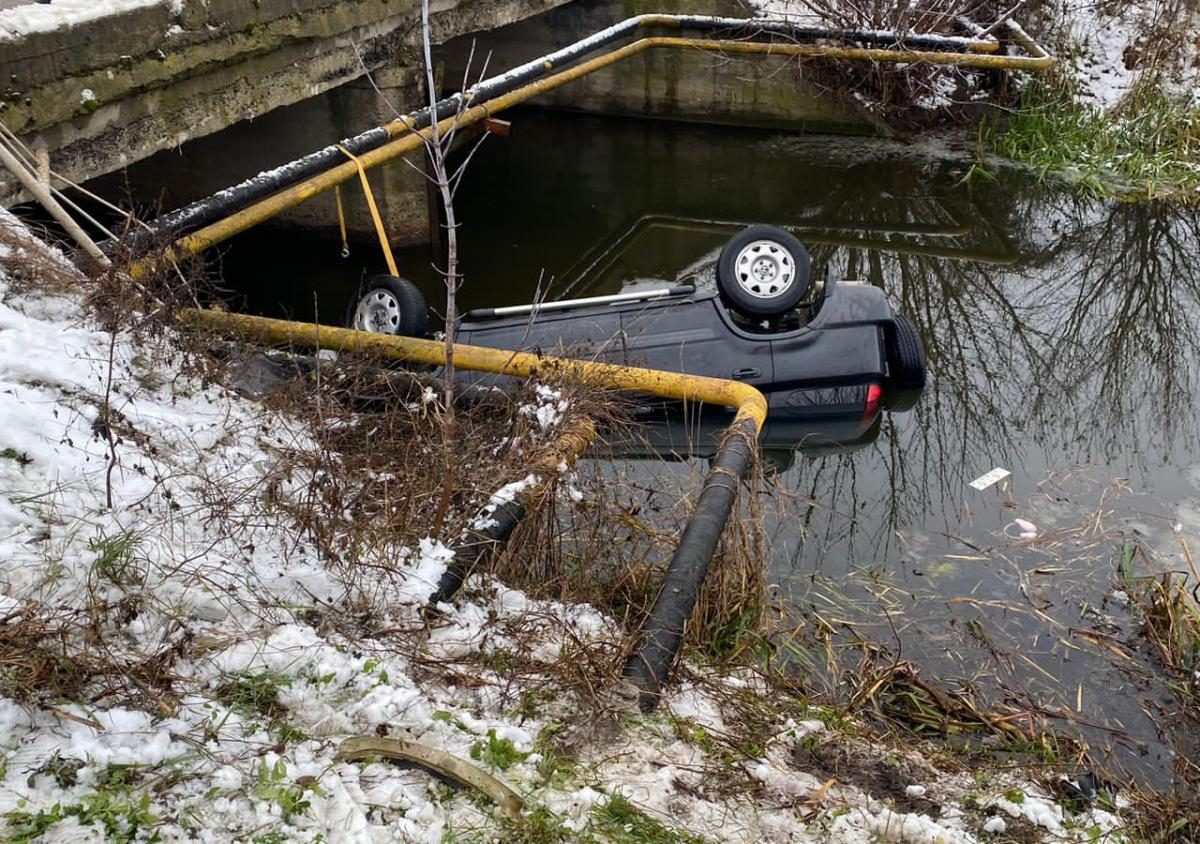
<svg viewBox="0 0 1200 844">
<path fill-rule="evenodd" d="M 128 190 L 142 208 L 209 196 L 427 102 L 420 0 L 120 0 L 110 8 L 124 11 L 62 22 L 80 7 L 89 4 L 52 0 L 0 11 L 0 121 L 68 179 L 114 173 L 101 180 L 101 192 L 124 197 Z M 59 25 L 55 8 L 65 10 Z M 481 56 L 493 74 L 630 14 L 685 10 L 748 16 L 739 0 L 433 0 L 433 40 L 440 46 L 434 61 L 443 88 L 456 90 L 468 55 L 474 80 Z M 38 19 L 42 25 L 29 25 Z M 820 95 L 796 70 L 784 56 L 655 54 L 539 102 L 872 131 L 851 101 Z M 436 232 L 424 157 L 418 152 L 371 174 L 395 243 Z M 348 228 L 371 234 L 361 191 L 344 193 Z M 0 203 L 25 199 L 0 169 Z M 329 193 L 282 219 L 329 229 L 338 225 L 337 205 Z"/>
</svg>

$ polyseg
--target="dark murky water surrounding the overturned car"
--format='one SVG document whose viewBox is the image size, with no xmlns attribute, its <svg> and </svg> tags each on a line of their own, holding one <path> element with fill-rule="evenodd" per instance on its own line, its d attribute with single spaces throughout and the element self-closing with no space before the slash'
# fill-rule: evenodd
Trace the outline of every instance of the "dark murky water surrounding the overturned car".
<svg viewBox="0 0 1200 844">
<path fill-rule="evenodd" d="M 797 670 L 836 693 L 866 640 L 1165 785 L 1187 731 L 1163 730 L 1178 704 L 1147 682 L 1114 589 L 1127 547 L 1139 574 L 1186 570 L 1184 543 L 1200 551 L 1200 215 L 1082 202 L 1014 172 L 965 184 L 968 166 L 877 140 L 518 113 L 458 194 L 462 305 L 703 283 L 751 222 L 883 287 L 917 324 L 931 383 L 871 442 L 776 455 L 770 573 L 808 631 Z M 264 247 L 282 256 L 271 277 Z M 328 321 L 382 265 L 370 245 L 337 252 L 258 234 L 226 269 L 252 310 L 310 318 L 316 301 Z M 398 257 L 436 303 L 430 251 Z M 968 486 L 994 467 L 1012 477 Z M 1020 539 L 1018 517 L 1038 538 Z"/>
</svg>

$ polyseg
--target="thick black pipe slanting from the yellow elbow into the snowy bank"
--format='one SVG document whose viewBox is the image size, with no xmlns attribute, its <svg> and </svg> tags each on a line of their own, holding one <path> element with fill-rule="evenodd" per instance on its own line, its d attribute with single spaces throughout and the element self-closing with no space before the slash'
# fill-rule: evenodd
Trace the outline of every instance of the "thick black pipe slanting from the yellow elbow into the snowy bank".
<svg viewBox="0 0 1200 844">
<path fill-rule="evenodd" d="M 738 486 L 754 461 L 756 443 L 757 432 L 749 419 L 731 427 L 725 436 L 704 478 L 696 509 L 671 557 L 662 589 L 642 627 L 637 647 L 625 663 L 624 676 L 637 688 L 643 711 L 653 710 L 659 702 L 683 644 L 684 625 L 696 609 L 716 543 L 737 499 Z"/>
</svg>

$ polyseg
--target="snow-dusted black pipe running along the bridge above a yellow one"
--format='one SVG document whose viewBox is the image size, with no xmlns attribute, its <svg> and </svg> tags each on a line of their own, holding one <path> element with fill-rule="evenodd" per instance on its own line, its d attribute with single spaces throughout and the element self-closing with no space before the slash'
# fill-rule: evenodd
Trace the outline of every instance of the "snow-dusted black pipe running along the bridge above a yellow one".
<svg viewBox="0 0 1200 844">
<path fill-rule="evenodd" d="M 431 107 L 410 112 L 406 120 L 413 131 L 419 131 L 433 122 L 431 115 L 438 120 L 454 116 L 461 109 L 468 108 L 478 102 L 484 102 L 493 97 L 506 94 L 521 85 L 535 79 L 540 79 L 559 71 L 564 64 L 576 61 L 594 53 L 601 47 L 618 41 L 636 29 L 643 26 L 648 20 L 661 26 L 667 24 L 661 18 L 671 19 L 672 29 L 701 30 L 710 35 L 755 35 L 766 32 L 768 35 L 784 36 L 792 40 L 811 41 L 817 38 L 838 38 L 841 41 L 857 41 L 871 44 L 889 44 L 913 48 L 950 48 L 968 49 L 971 46 L 985 43 L 974 38 L 961 38 L 954 36 L 935 35 L 900 35 L 896 32 L 871 32 L 859 30 L 827 30 L 812 26 L 797 26 L 781 20 L 760 20 L 755 18 L 716 18 L 696 14 L 656 16 L 641 14 L 628 18 L 613 26 L 602 29 L 599 32 L 581 38 L 562 49 L 547 53 L 544 56 L 528 61 L 510 71 L 485 79 L 466 91 L 454 94 Z M 658 19 L 658 20 L 655 20 Z M 377 149 L 392 139 L 386 128 L 376 128 L 346 138 L 341 146 L 354 155 L 364 155 Z M 132 237 L 133 247 L 145 245 L 151 240 L 175 240 L 182 234 L 208 226 L 211 222 L 236 214 L 247 205 L 265 199 L 272 193 L 277 193 L 296 182 L 311 179 L 319 173 L 336 167 L 346 161 L 346 154 L 338 149 L 338 144 L 325 146 L 311 152 L 301 158 L 282 164 L 270 170 L 264 170 L 256 176 L 246 179 L 238 185 L 227 187 L 214 193 L 211 197 L 199 199 L 180 209 L 162 215 L 151 223 L 149 231 L 137 231 Z M 106 244 L 112 247 L 112 244 Z"/>
</svg>

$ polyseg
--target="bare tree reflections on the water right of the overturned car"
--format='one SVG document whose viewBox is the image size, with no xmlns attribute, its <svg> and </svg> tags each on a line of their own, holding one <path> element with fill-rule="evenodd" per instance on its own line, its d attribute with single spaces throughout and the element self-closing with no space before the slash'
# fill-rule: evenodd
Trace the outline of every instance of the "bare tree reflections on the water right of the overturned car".
<svg viewBox="0 0 1200 844">
<path fill-rule="evenodd" d="M 889 193 L 881 205 L 847 202 L 835 211 L 847 228 L 882 215 L 895 222 L 898 211 L 928 220 L 926 197 L 906 203 Z M 846 489 L 851 475 L 835 468 L 845 457 L 822 456 L 792 475 L 809 497 L 845 499 L 851 509 L 870 502 L 887 510 L 889 529 L 930 515 L 949 527 L 961 520 L 966 481 L 994 465 L 1030 473 L 1064 462 L 1105 466 L 1152 485 L 1156 463 L 1195 454 L 1198 216 L 1039 190 L 1004 203 L 989 194 L 973 211 L 1007 233 L 1013 263 L 917 255 L 905 245 L 815 246 L 817 263 L 840 262 L 912 319 L 931 383 L 874 447 L 888 467 L 882 492 Z M 968 251 L 973 235 L 955 246 Z"/>
</svg>

